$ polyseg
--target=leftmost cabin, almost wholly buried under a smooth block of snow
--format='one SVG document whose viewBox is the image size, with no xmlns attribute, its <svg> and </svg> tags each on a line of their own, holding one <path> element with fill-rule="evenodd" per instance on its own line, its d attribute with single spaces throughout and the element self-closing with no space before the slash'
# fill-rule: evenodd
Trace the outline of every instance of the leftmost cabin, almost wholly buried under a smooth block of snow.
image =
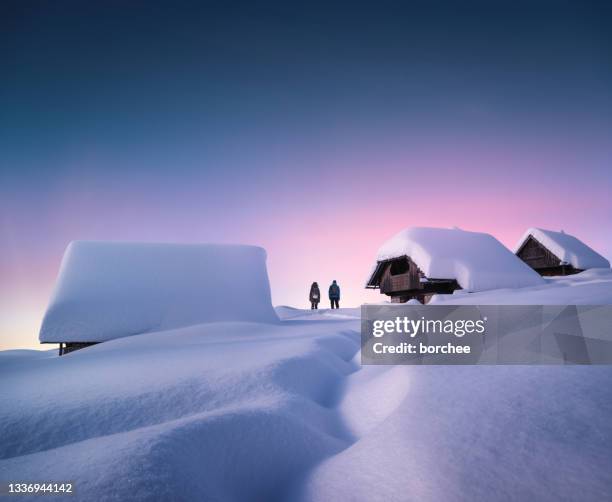
<svg viewBox="0 0 612 502">
<path fill-rule="evenodd" d="M 214 321 L 277 322 L 255 246 L 72 242 L 40 329 L 60 355 Z"/>
</svg>

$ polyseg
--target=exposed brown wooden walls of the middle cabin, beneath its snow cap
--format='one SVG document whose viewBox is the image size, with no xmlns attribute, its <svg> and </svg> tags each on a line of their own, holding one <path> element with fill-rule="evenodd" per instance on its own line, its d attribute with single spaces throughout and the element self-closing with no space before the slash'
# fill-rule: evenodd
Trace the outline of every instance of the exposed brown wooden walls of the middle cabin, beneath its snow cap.
<svg viewBox="0 0 612 502">
<path fill-rule="evenodd" d="M 455 279 L 432 279 L 425 277 L 409 256 L 400 256 L 377 263 L 367 289 L 380 289 L 381 294 L 393 303 L 418 300 L 427 303 L 432 295 L 450 294 L 461 289 Z"/>
</svg>

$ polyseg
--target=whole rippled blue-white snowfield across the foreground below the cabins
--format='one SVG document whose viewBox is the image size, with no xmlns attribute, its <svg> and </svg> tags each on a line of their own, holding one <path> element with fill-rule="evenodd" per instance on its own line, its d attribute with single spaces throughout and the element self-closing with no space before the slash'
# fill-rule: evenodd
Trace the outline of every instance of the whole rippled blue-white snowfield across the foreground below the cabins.
<svg viewBox="0 0 612 502">
<path fill-rule="evenodd" d="M 73 501 L 611 492 L 612 367 L 360 366 L 357 309 L 278 312 L 0 353 L 0 480 L 73 480 Z"/>
</svg>

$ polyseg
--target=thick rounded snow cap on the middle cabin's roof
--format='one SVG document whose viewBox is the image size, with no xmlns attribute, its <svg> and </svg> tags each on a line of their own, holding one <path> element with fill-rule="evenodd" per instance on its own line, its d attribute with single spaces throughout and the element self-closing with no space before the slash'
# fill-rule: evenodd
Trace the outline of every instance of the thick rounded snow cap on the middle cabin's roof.
<svg viewBox="0 0 612 502">
<path fill-rule="evenodd" d="M 460 229 L 412 227 L 378 250 L 377 261 L 409 256 L 430 279 L 455 279 L 467 291 L 522 288 L 543 279 L 495 237 Z"/>
</svg>

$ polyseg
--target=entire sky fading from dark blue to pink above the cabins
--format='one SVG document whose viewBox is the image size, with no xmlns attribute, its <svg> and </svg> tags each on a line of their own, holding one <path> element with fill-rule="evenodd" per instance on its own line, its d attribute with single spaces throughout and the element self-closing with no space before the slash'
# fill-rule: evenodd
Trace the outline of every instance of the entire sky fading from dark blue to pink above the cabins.
<svg viewBox="0 0 612 502">
<path fill-rule="evenodd" d="M 0 348 L 73 239 L 259 244 L 344 305 L 411 225 L 612 257 L 604 2 L 0 5 Z M 211 285 L 214 287 L 214 285 Z"/>
</svg>

